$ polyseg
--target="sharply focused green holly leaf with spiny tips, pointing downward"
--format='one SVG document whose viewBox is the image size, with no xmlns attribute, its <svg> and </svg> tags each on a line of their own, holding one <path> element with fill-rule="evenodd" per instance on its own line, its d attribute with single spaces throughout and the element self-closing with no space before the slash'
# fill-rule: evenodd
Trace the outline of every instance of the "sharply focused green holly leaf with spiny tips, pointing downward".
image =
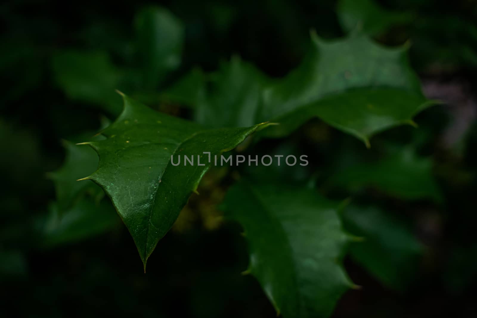
<svg viewBox="0 0 477 318">
<path fill-rule="evenodd" d="M 98 169 L 83 180 L 93 180 L 111 198 L 145 267 L 213 162 L 203 152 L 212 157 L 229 151 L 267 124 L 208 129 L 158 113 L 125 95 L 123 99 L 123 112 L 102 132 L 107 139 L 83 143 L 100 157 Z M 174 165 L 184 155 L 193 157 L 195 164 L 183 160 Z"/>
</svg>

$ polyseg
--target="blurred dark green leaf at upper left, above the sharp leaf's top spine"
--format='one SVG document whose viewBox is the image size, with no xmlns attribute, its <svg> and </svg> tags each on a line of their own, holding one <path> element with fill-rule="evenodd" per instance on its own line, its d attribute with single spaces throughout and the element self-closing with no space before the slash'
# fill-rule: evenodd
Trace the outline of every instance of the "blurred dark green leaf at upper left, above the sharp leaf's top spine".
<svg viewBox="0 0 477 318">
<path fill-rule="evenodd" d="M 114 92 L 121 74 L 106 52 L 62 51 L 52 64 L 56 82 L 68 98 L 95 104 L 112 115 L 121 112 L 121 99 Z"/>
</svg>

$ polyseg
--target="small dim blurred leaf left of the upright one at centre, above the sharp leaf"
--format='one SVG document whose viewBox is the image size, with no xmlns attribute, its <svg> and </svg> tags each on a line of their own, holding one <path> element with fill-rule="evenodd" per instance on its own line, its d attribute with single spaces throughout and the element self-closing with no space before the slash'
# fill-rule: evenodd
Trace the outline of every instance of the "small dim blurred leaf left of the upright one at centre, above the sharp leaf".
<svg viewBox="0 0 477 318">
<path fill-rule="evenodd" d="M 161 99 L 166 102 L 179 103 L 189 108 L 196 108 L 205 94 L 205 78 L 202 70 L 195 68 L 184 77 L 166 88 Z"/>
</svg>

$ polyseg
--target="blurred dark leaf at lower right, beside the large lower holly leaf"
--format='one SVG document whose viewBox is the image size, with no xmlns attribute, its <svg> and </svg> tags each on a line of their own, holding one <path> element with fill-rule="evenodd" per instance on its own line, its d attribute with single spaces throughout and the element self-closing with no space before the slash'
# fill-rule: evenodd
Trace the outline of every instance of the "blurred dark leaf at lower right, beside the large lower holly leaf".
<svg viewBox="0 0 477 318">
<path fill-rule="evenodd" d="M 386 287 L 403 290 L 412 281 L 423 246 L 400 219 L 376 207 L 351 205 L 342 214 L 344 227 L 363 237 L 350 253 Z"/>
</svg>

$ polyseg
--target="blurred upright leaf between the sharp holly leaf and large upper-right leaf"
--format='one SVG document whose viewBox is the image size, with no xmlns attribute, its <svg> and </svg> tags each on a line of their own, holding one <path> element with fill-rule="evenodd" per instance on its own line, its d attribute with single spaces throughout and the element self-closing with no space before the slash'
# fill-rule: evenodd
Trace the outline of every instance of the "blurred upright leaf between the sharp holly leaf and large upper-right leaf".
<svg viewBox="0 0 477 318">
<path fill-rule="evenodd" d="M 239 57 L 222 63 L 211 90 L 197 105 L 196 120 L 211 127 L 246 127 L 259 123 L 260 97 L 269 80 Z"/>
</svg>

